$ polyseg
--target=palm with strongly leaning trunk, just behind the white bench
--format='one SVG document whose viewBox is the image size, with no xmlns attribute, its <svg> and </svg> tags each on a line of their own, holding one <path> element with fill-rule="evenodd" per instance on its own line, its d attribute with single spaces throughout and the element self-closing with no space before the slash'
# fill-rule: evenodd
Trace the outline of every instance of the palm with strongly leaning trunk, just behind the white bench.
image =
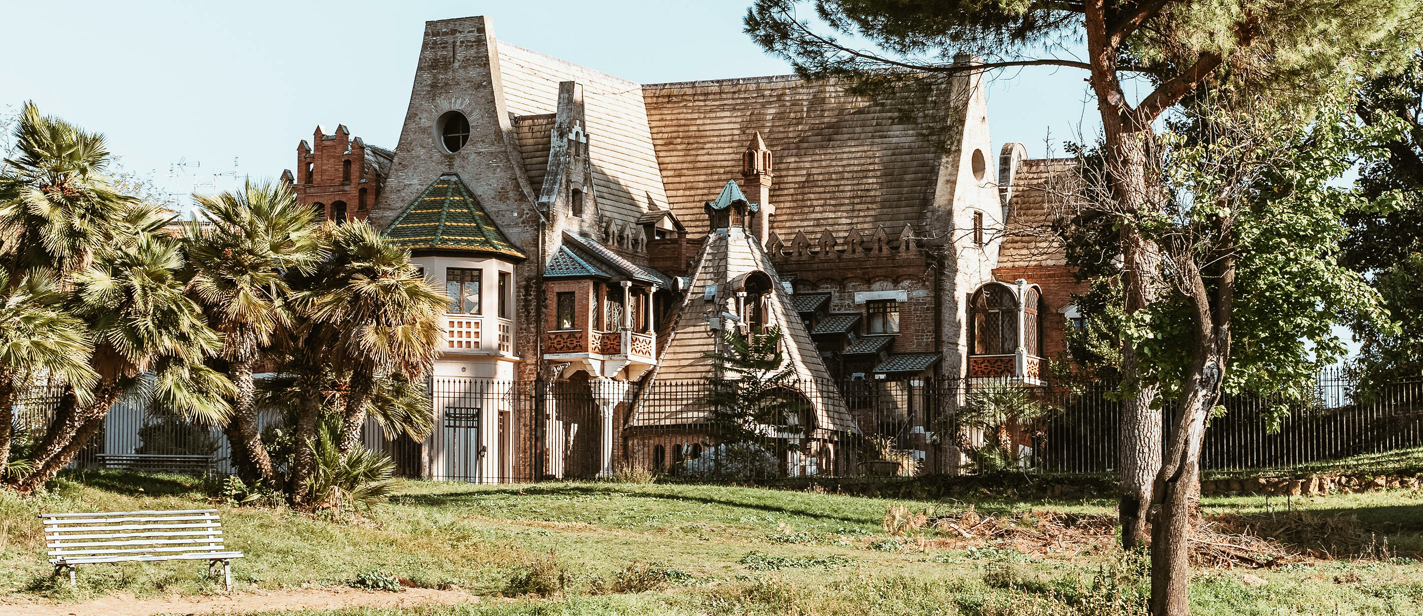
<svg viewBox="0 0 1425 616">
<path fill-rule="evenodd" d="M 144 388 L 190 418 L 222 421 L 228 415 L 224 396 L 234 394 L 232 384 L 204 365 L 221 349 L 221 337 L 184 295 L 182 254 L 177 240 L 152 232 L 154 214 L 128 217 L 133 227 L 125 231 L 133 235 L 97 251 L 94 262 L 71 277 L 70 311 L 88 324 L 94 342 L 88 364 L 98 378 L 87 404 L 73 388 L 66 394 L 30 461 L 33 471 L 11 481 L 21 492 L 68 465 L 125 389 Z"/>
</svg>

